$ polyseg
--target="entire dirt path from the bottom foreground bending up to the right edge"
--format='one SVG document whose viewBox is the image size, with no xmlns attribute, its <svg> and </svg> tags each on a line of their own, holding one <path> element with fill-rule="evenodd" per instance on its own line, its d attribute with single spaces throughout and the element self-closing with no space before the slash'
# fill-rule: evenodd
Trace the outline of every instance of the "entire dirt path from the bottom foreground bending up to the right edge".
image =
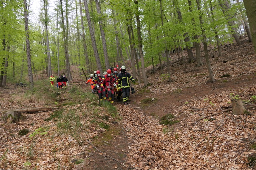
<svg viewBox="0 0 256 170">
<path fill-rule="evenodd" d="M 242 87 L 250 87 L 255 86 L 256 83 L 256 75 L 249 74 L 243 75 L 241 77 L 228 78 L 228 81 L 216 81 L 215 83 L 206 83 L 201 86 L 189 87 L 185 89 L 181 89 L 181 91 L 175 91 L 168 94 L 154 94 L 150 97 L 157 98 L 157 102 L 151 104 L 149 106 L 142 106 L 141 100 L 149 97 L 150 93 L 135 93 L 130 96 L 131 104 L 128 106 L 123 106 L 122 102 L 115 103 L 116 107 L 119 108 L 119 112 L 122 115 L 122 112 L 128 112 L 133 115 L 133 112 L 141 112 L 145 115 L 154 115 L 156 117 L 162 117 L 166 115 L 170 110 L 176 109 L 176 107 L 184 105 L 187 100 L 193 98 L 200 98 L 208 94 L 217 94 L 222 91 L 230 90 L 230 89 L 238 89 Z M 152 88 L 152 87 L 149 87 Z M 154 88 L 154 87 L 153 87 Z M 128 114 L 128 115 L 129 115 Z M 127 116 L 127 115 L 126 115 Z M 129 119 L 124 116 L 124 119 Z M 139 118 L 138 118 L 139 119 Z M 144 118 L 147 119 L 147 118 Z M 134 120 L 131 120 L 134 121 Z M 140 123 L 140 126 L 143 127 L 144 123 Z M 120 124 L 115 125 L 108 132 L 102 134 L 101 137 L 94 141 L 95 146 L 106 153 L 108 156 L 120 161 L 125 164 L 127 162 L 126 155 L 128 154 L 128 147 L 133 144 L 133 141 L 136 139 L 135 137 L 128 137 L 127 132 L 124 130 L 126 126 L 125 121 L 121 121 Z M 137 126 L 137 125 L 134 125 Z M 145 127 L 145 126 L 144 126 Z M 138 128 L 138 127 L 136 127 Z M 127 129 L 126 129 L 127 130 Z M 129 129 L 128 129 L 129 130 Z M 112 135 L 112 138 L 109 139 L 109 135 Z M 106 141 L 107 140 L 107 141 Z M 111 159 L 109 157 L 104 156 L 99 151 L 93 148 L 92 156 L 85 163 L 82 169 L 84 170 L 126 170 L 125 166 L 122 166 L 120 163 Z M 129 165 L 126 165 L 129 166 Z M 136 168 L 134 168 L 136 169 Z"/>
</svg>

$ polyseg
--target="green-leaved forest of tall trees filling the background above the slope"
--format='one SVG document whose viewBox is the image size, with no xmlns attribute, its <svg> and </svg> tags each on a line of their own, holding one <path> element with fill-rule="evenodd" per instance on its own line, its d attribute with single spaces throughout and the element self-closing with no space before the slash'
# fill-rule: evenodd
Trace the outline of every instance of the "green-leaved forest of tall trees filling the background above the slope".
<svg viewBox="0 0 256 170">
<path fill-rule="evenodd" d="M 205 57 L 209 81 L 214 82 L 207 46 L 213 45 L 221 56 L 220 45 L 235 40 L 239 46 L 241 37 L 248 36 L 250 42 L 255 37 L 253 24 L 252 34 L 248 26 L 247 16 L 254 14 L 249 0 L 245 1 L 248 15 L 239 0 L 50 2 L 38 2 L 38 16 L 30 8 L 36 1 L 1 2 L 0 86 L 28 81 L 32 88 L 40 74 L 58 75 L 60 69 L 72 81 L 71 65 L 90 74 L 125 61 L 132 65 L 138 83 L 142 75 L 147 86 L 145 67 L 169 63 L 171 54 L 182 50 L 188 56 L 180 54 L 182 62 L 200 66 Z"/>
</svg>

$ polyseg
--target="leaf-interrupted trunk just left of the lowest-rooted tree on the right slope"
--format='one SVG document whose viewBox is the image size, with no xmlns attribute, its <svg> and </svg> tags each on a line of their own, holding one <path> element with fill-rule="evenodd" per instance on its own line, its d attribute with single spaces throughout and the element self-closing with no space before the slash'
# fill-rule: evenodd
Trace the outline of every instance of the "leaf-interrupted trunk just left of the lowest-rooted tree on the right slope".
<svg viewBox="0 0 256 170">
<path fill-rule="evenodd" d="M 189 11 L 190 13 L 192 13 L 192 4 L 191 4 L 191 0 L 188 0 L 189 3 Z M 192 25 L 194 28 L 196 28 L 196 24 L 195 24 L 195 18 L 193 17 L 191 19 Z M 203 65 L 202 60 L 201 60 L 201 54 L 200 54 L 200 44 L 199 44 L 199 40 L 198 40 L 198 35 L 195 34 L 194 35 L 194 40 L 195 40 L 195 51 L 197 54 L 196 57 L 196 61 L 197 61 L 197 66 Z"/>
</svg>

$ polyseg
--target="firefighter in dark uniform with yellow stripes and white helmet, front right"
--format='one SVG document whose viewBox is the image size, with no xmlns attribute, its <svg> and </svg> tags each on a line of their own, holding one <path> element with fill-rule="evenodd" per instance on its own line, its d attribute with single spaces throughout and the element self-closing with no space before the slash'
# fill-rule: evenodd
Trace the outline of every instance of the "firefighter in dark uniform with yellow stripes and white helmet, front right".
<svg viewBox="0 0 256 170">
<path fill-rule="evenodd" d="M 131 76 L 131 74 L 125 72 L 126 68 L 123 65 L 121 67 L 121 72 L 118 74 L 118 90 L 122 89 L 123 93 L 123 103 L 124 105 L 128 104 L 129 96 L 130 96 L 130 83 L 129 79 L 132 81 L 133 84 L 135 84 L 134 78 Z"/>
</svg>

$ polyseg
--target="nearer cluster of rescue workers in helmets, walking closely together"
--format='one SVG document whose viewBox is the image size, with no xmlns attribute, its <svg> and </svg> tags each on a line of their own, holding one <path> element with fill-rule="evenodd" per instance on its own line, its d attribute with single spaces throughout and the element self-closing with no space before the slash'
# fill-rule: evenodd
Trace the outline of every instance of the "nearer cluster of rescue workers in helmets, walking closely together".
<svg viewBox="0 0 256 170">
<path fill-rule="evenodd" d="M 124 105 L 128 104 L 130 96 L 130 83 L 129 79 L 135 84 L 134 78 L 131 74 L 126 72 L 126 67 L 123 65 L 120 68 L 120 73 L 118 69 L 114 68 L 114 73 L 111 69 L 101 75 L 99 70 L 94 71 L 94 74 L 90 75 L 90 78 L 85 84 L 90 83 L 92 88 L 92 93 L 96 93 L 99 96 L 99 100 L 108 100 L 111 104 L 114 103 L 114 97 L 120 100 L 122 95 Z"/>
</svg>

